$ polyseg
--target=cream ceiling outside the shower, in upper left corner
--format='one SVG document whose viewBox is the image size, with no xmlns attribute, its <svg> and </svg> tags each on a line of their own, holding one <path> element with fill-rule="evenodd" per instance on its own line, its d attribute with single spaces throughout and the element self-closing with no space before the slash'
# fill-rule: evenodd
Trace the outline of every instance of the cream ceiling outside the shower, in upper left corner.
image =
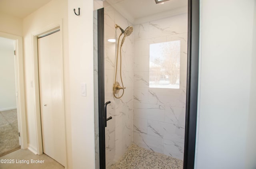
<svg viewBox="0 0 256 169">
<path fill-rule="evenodd" d="M 0 0 L 0 12 L 24 18 L 51 0 Z"/>
</svg>

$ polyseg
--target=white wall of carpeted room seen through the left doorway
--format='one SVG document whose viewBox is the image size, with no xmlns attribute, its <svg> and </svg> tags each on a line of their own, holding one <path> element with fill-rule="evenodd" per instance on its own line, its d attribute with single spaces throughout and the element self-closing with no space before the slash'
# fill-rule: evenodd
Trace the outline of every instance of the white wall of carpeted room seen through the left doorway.
<svg viewBox="0 0 256 169">
<path fill-rule="evenodd" d="M 0 37 L 0 111 L 17 107 L 14 40 Z"/>
</svg>

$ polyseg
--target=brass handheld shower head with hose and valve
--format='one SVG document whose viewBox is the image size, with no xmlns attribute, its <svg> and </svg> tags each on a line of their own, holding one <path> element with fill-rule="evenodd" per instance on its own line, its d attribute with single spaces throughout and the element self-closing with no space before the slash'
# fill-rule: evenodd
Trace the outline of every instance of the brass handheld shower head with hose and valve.
<svg viewBox="0 0 256 169">
<path fill-rule="evenodd" d="M 114 85 L 113 85 L 113 95 L 115 98 L 121 98 L 123 95 L 124 95 L 124 89 L 126 87 L 124 87 L 124 84 L 123 84 L 123 80 L 122 80 L 122 75 L 121 75 L 121 72 L 122 72 L 122 45 L 124 44 L 124 39 L 126 36 L 129 36 L 130 34 L 132 34 L 132 31 L 133 31 L 133 27 L 132 26 L 128 26 L 125 30 L 122 29 L 120 26 L 118 26 L 117 24 L 115 24 L 115 28 L 119 28 L 121 30 L 121 33 L 118 37 L 118 43 L 117 43 L 117 54 L 116 54 L 116 71 L 115 71 L 115 80 L 114 80 Z M 124 34 L 124 37 L 121 41 L 121 45 L 120 45 L 120 79 L 121 79 L 121 83 L 122 83 L 122 87 L 120 86 L 120 83 L 116 81 L 116 74 L 117 74 L 117 66 L 118 66 L 118 50 L 119 50 L 119 41 L 120 41 L 120 37 L 121 35 Z M 119 90 L 122 89 L 123 92 L 122 92 L 122 95 L 121 96 L 116 96 L 116 94 L 118 94 Z"/>
</svg>

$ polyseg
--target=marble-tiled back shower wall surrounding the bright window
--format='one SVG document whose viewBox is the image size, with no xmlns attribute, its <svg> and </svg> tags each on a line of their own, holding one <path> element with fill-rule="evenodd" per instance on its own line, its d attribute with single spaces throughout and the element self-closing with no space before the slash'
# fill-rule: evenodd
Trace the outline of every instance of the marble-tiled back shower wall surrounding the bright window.
<svg viewBox="0 0 256 169">
<path fill-rule="evenodd" d="M 134 26 L 133 142 L 183 159 L 186 107 L 187 14 Z M 149 88 L 149 46 L 180 40 L 180 88 Z"/>
</svg>

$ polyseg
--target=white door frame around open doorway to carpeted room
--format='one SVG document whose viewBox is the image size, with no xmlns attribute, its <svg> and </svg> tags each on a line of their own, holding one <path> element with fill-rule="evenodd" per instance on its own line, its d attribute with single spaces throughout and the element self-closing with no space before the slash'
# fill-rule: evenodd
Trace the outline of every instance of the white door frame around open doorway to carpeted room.
<svg viewBox="0 0 256 169">
<path fill-rule="evenodd" d="M 27 140 L 27 123 L 26 123 L 26 100 L 25 100 L 25 86 L 24 86 L 24 58 L 23 58 L 23 44 L 22 37 L 12 35 L 9 33 L 0 32 L 0 37 L 13 39 L 16 51 L 15 55 L 15 81 L 17 92 L 17 115 L 18 128 L 20 132 L 20 147 L 21 149 L 28 148 Z"/>
</svg>

